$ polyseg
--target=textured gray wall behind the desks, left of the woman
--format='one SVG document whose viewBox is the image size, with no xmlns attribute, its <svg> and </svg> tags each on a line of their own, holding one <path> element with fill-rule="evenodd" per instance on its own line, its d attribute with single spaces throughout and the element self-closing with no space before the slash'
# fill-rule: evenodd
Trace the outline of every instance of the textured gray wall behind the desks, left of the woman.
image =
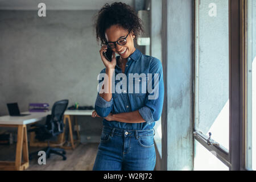
<svg viewBox="0 0 256 182">
<path fill-rule="evenodd" d="M 0 115 L 6 103 L 67 98 L 69 106 L 93 105 L 97 75 L 104 68 L 98 51 L 93 16 L 97 11 L 0 11 Z M 78 117 L 81 135 L 100 135 L 100 118 Z"/>
</svg>

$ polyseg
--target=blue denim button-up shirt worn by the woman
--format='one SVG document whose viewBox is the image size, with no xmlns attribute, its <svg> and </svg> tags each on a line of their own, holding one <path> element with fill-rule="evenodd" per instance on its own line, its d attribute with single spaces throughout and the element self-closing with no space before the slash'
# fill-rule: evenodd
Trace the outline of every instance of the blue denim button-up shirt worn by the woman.
<svg viewBox="0 0 256 182">
<path fill-rule="evenodd" d="M 119 60 L 119 57 L 120 56 L 116 57 L 117 61 Z M 102 69 L 100 73 L 106 73 L 106 68 Z M 134 76 L 134 73 L 138 73 L 137 76 Z M 127 80 L 126 88 L 123 85 L 116 87 L 118 82 L 120 82 L 123 78 L 119 78 L 117 75 L 123 75 L 126 77 L 126 79 L 124 79 Z M 130 75 L 133 75 L 134 77 L 129 77 Z M 134 78 L 135 81 L 133 80 Z M 122 69 L 118 67 L 118 65 L 115 65 L 112 79 L 114 79 L 112 81 L 112 86 L 122 90 L 121 92 L 117 92 L 116 89 L 112 89 L 114 90 L 114 93 L 112 93 L 112 99 L 108 102 L 99 95 L 104 76 L 102 76 L 101 79 L 98 78 L 99 86 L 95 102 L 95 110 L 97 114 L 104 118 L 108 116 L 109 113 L 118 114 L 139 110 L 139 113 L 146 122 L 124 123 L 104 119 L 103 125 L 126 130 L 152 129 L 155 126 L 155 121 L 160 119 L 163 109 L 164 82 L 163 68 L 160 60 L 152 56 L 143 55 L 141 51 L 135 49 L 135 51 L 127 58 L 125 73 L 122 73 Z M 158 82 L 155 82 L 156 79 L 158 79 Z M 133 86 L 131 86 L 130 81 L 134 81 Z M 150 88 L 152 89 L 150 92 L 148 92 L 147 86 L 150 82 L 152 82 L 152 85 L 150 85 Z M 138 89 L 137 92 L 131 90 L 135 90 L 136 87 L 139 88 L 139 92 Z M 155 92 L 152 92 L 152 90 Z M 158 94 L 156 94 L 157 92 Z"/>
</svg>

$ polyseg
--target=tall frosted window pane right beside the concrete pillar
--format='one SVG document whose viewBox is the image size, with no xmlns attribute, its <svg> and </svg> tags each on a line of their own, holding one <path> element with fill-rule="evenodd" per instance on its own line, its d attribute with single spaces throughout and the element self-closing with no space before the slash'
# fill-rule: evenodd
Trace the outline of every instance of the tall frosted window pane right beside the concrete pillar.
<svg viewBox="0 0 256 182">
<path fill-rule="evenodd" d="M 197 0 L 195 26 L 195 131 L 197 134 L 200 133 L 197 136 L 203 137 L 205 142 L 210 137 L 212 140 L 208 141 L 214 142 L 214 146 L 227 155 L 229 150 L 229 1 Z M 204 147 L 198 147 L 199 144 L 195 146 L 197 146 L 195 153 L 208 155 L 207 152 L 200 151 Z M 200 168 L 199 164 L 205 161 L 205 158 L 197 158 L 197 156 L 195 155 L 194 160 L 195 169 Z"/>
</svg>

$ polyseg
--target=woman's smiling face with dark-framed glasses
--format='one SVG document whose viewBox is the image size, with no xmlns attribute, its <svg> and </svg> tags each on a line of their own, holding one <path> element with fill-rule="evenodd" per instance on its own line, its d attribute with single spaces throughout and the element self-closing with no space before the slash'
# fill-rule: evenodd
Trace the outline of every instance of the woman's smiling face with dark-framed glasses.
<svg viewBox="0 0 256 182">
<path fill-rule="evenodd" d="M 125 38 L 128 33 L 129 31 L 124 29 L 123 27 L 113 25 L 106 30 L 105 36 L 108 42 L 116 42 L 118 39 Z M 135 35 L 133 34 L 133 31 L 131 31 L 126 38 L 126 44 L 123 46 L 116 44 L 115 48 L 113 48 L 112 51 L 118 53 L 118 55 L 120 55 L 122 59 L 127 59 L 127 57 L 129 57 L 135 51 L 133 42 L 134 38 Z"/>
</svg>

